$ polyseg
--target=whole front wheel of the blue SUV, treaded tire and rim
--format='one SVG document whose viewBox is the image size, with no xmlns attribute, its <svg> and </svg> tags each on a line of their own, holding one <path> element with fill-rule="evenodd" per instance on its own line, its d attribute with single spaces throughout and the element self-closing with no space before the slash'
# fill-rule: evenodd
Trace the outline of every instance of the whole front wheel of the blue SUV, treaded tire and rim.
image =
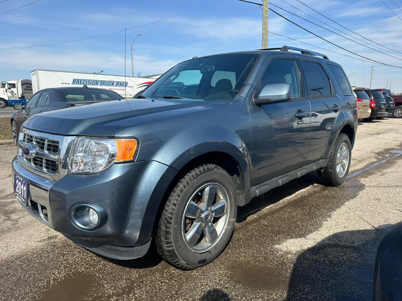
<svg viewBox="0 0 402 301">
<path fill-rule="evenodd" d="M 213 197 L 206 197 L 212 193 Z M 211 209 L 205 209 L 210 204 Z M 196 167 L 178 181 L 168 196 L 156 234 L 158 253 L 184 270 L 207 264 L 224 250 L 232 237 L 236 212 L 232 177 L 217 165 Z"/>
</svg>

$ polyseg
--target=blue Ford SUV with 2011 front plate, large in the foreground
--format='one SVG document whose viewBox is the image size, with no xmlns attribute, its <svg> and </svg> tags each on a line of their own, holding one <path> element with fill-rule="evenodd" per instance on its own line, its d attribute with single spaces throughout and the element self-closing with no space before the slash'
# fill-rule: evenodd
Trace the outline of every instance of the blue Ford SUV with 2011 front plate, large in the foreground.
<svg viewBox="0 0 402 301">
<path fill-rule="evenodd" d="M 21 205 L 103 256 L 138 258 L 154 239 L 196 268 L 228 244 L 237 206 L 311 171 L 347 177 L 356 98 L 325 55 L 199 57 L 136 97 L 29 118 L 12 162 Z"/>
</svg>

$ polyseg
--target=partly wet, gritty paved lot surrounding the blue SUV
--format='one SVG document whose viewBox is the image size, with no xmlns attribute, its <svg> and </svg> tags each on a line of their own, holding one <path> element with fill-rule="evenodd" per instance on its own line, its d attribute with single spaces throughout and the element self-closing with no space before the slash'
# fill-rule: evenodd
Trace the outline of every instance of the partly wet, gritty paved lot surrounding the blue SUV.
<svg viewBox="0 0 402 301">
<path fill-rule="evenodd" d="M 154 250 L 111 260 L 37 222 L 13 196 L 0 146 L 2 300 L 371 300 L 375 252 L 402 220 L 402 119 L 361 122 L 349 179 L 316 173 L 239 207 L 226 250 L 193 271 Z"/>
</svg>

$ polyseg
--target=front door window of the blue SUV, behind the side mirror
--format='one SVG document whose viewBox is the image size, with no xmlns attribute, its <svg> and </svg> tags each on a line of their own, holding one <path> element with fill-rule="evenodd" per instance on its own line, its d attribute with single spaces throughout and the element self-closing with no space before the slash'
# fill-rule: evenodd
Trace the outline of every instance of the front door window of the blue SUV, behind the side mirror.
<svg viewBox="0 0 402 301">
<path fill-rule="evenodd" d="M 293 59 L 275 59 L 269 63 L 261 78 L 261 88 L 268 83 L 290 83 L 293 88 L 293 98 L 301 97 L 299 73 Z"/>
</svg>

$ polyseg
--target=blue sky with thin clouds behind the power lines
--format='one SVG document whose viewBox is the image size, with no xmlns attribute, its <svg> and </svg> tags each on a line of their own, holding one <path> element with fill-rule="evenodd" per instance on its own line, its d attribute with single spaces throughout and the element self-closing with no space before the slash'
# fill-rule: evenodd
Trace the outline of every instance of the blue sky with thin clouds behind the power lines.
<svg viewBox="0 0 402 301">
<path fill-rule="evenodd" d="M 8 0 L 0 2 L 0 12 L 25 5 L 33 0 Z M 125 27 L 150 23 L 168 16 L 186 12 L 217 0 L 154 0 L 154 1 L 55 1 L 40 0 L 24 8 L 0 14 L 2 39 L 0 48 L 26 47 L 58 43 L 119 31 Z M 261 0 L 254 0 L 260 2 Z M 302 6 L 297 0 L 285 2 L 307 12 L 342 31 L 316 12 Z M 298 10 L 282 0 L 270 0 L 297 15 Z M 395 16 L 380 0 L 302 0 L 322 14 L 379 44 L 401 51 L 399 55 L 378 53 L 348 41 L 313 24 L 271 6 L 294 22 L 328 39 L 332 43 L 355 53 L 391 65 L 402 66 L 402 20 Z M 384 0 L 402 18 L 402 10 L 390 0 Z M 402 8 L 401 0 L 394 0 Z M 301 16 L 316 23 L 310 16 Z M 130 43 L 135 41 L 134 73 L 142 75 L 163 73 L 176 63 L 193 56 L 213 53 L 259 49 L 261 47 L 262 10 L 253 4 L 237 0 L 223 0 L 206 8 L 127 31 L 126 68 L 131 74 Z M 323 25 L 322 23 L 319 23 Z M 274 34 L 269 36 L 269 47 L 293 45 L 304 48 L 303 41 L 328 50 L 351 55 L 325 41 L 303 32 L 288 21 L 269 14 L 269 31 L 291 37 L 301 42 L 289 41 Z M 353 37 L 358 37 L 349 32 Z M 362 39 L 361 37 L 358 37 Z M 355 38 L 353 38 L 355 39 Z M 371 43 L 371 42 L 370 42 Z M 372 87 L 384 87 L 392 81 L 392 90 L 402 92 L 402 70 L 363 63 L 330 51 L 306 45 L 307 49 L 325 53 L 340 63 L 354 85 L 369 86 L 370 68 L 374 66 Z M 30 78 L 33 69 L 55 69 L 82 72 L 104 70 L 109 74 L 124 74 L 124 32 L 86 41 L 27 49 L 0 50 L 0 80 Z M 385 51 L 384 51 L 385 52 Z M 354 55 L 351 55 L 354 56 Z M 364 68 L 364 73 L 363 73 Z M 364 81 L 363 81 L 364 79 Z"/>
</svg>

